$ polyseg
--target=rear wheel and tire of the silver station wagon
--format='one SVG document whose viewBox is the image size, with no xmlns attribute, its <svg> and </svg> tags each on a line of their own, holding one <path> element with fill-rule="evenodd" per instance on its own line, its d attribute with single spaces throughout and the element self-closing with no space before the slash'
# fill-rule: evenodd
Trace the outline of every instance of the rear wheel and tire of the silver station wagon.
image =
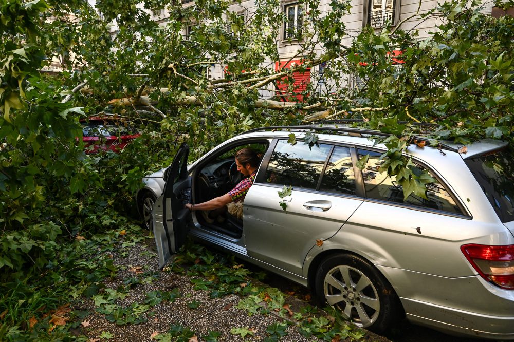
<svg viewBox="0 0 514 342">
<path fill-rule="evenodd" d="M 365 259 L 351 254 L 327 257 L 316 273 L 316 296 L 355 325 L 382 333 L 400 317 L 401 303 L 389 281 Z"/>
</svg>

